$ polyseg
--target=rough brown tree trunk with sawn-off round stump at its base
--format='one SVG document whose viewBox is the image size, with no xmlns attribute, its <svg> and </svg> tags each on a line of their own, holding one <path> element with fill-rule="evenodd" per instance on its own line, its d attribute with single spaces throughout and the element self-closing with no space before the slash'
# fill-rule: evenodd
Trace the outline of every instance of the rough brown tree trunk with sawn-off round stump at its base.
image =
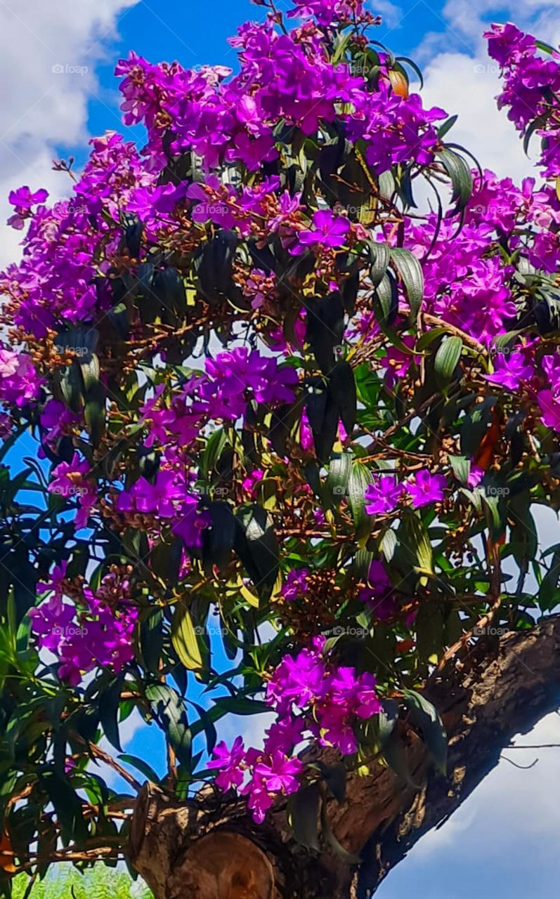
<svg viewBox="0 0 560 899">
<path fill-rule="evenodd" d="M 481 639 L 432 677 L 426 696 L 449 734 L 448 777 L 434 772 L 420 737 L 403 727 L 404 784 L 375 762 L 351 775 L 326 815 L 344 850 L 303 849 L 284 808 L 255 825 L 241 802 L 213 789 L 187 804 L 147 784 L 138 797 L 130 860 L 156 899 L 365 899 L 423 833 L 442 823 L 498 763 L 516 734 L 560 707 L 560 616 L 500 639 Z M 324 761 L 335 753 L 321 751 Z"/>
</svg>

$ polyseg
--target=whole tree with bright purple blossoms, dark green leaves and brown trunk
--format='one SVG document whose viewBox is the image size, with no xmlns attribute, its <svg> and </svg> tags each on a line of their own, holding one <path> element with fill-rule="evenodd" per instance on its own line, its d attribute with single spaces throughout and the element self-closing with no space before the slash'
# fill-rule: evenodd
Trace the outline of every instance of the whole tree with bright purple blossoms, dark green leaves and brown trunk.
<svg viewBox="0 0 560 899">
<path fill-rule="evenodd" d="M 486 35 L 518 186 L 360 0 L 258 5 L 235 74 L 120 61 L 143 149 L 11 194 L 5 895 L 124 855 L 156 899 L 365 897 L 558 702 L 560 57 Z"/>
</svg>

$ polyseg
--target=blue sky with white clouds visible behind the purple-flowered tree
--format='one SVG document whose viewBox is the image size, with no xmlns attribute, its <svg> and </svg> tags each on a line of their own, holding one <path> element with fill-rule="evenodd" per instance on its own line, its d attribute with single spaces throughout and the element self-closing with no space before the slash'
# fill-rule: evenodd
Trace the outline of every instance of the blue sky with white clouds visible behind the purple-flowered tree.
<svg viewBox="0 0 560 899">
<path fill-rule="evenodd" d="M 480 36 L 488 22 L 510 19 L 558 43 L 560 8 L 546 0 L 382 0 L 373 8 L 385 16 L 378 40 L 421 62 L 427 101 L 460 113 L 455 138 L 499 174 L 530 174 L 519 139 L 495 110 L 497 73 L 484 56 Z M 0 0 L 0 220 L 7 217 L 4 198 L 13 187 L 47 186 L 53 198 L 65 195 L 67 182 L 51 171 L 53 156 L 73 154 L 80 165 L 87 139 L 105 129 L 120 129 L 141 141 L 140 129 L 120 124 L 112 76 L 116 59 L 135 49 L 154 62 L 234 67 L 227 37 L 245 18 L 259 19 L 262 13 L 248 0 Z M 57 66 L 64 68 L 62 74 L 53 72 Z M 17 235 L 0 227 L 2 265 L 17 256 L 18 248 Z M 547 520 L 546 527 L 557 528 L 556 520 Z M 246 720 L 240 725 L 246 727 Z M 235 727 L 227 725 L 228 736 Z M 255 723 L 253 730 L 258 739 L 262 724 Z M 156 729 L 134 732 L 129 722 L 128 732 L 129 752 L 159 767 Z M 548 717 L 523 739 L 559 743 L 560 718 Z M 510 755 L 521 764 L 539 756 L 538 765 L 520 771 L 502 761 L 458 814 L 425 837 L 387 878 L 380 899 L 408 899 L 412 891 L 422 899 L 556 895 L 560 751 Z"/>
</svg>

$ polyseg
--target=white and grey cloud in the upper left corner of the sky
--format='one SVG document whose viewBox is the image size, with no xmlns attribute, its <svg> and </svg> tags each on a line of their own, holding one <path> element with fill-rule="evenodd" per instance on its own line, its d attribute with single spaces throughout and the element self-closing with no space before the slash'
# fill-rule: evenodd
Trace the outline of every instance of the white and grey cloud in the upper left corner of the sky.
<svg viewBox="0 0 560 899">
<path fill-rule="evenodd" d="M 67 176 L 52 172 L 56 147 L 82 146 L 95 66 L 118 22 L 138 0 L 1 0 L 0 266 L 18 255 L 21 234 L 4 226 L 7 194 L 29 184 L 51 199 L 67 195 Z"/>
</svg>

